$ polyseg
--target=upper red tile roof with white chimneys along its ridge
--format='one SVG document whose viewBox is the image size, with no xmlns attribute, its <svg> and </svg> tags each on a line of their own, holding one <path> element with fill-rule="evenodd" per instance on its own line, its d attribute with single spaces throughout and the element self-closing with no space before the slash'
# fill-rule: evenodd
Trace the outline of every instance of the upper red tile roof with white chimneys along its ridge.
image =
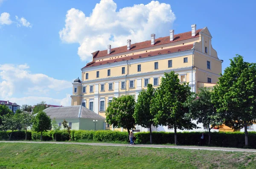
<svg viewBox="0 0 256 169">
<path fill-rule="evenodd" d="M 201 30 L 202 29 L 198 29 L 196 31 L 195 37 L 199 37 L 199 32 Z M 192 37 L 191 34 L 192 34 L 191 31 L 181 33 L 181 34 L 175 34 L 173 41 L 170 41 L 170 36 L 160 37 L 160 38 L 155 39 L 154 46 L 195 38 L 195 37 Z M 147 41 L 144 41 L 144 42 L 131 44 L 131 49 L 129 51 L 135 51 L 135 50 L 138 50 L 138 49 L 148 48 L 148 47 L 151 47 L 151 46 L 153 46 L 153 45 L 151 45 L 151 40 L 147 40 Z M 120 54 L 120 53 L 123 53 L 123 52 L 127 52 L 127 45 L 121 46 L 121 47 L 118 47 L 118 48 L 112 48 L 110 54 L 108 54 L 108 50 L 96 51 L 96 52 L 93 53 L 93 58 L 98 59 L 100 57 L 111 56 L 113 54 Z"/>
</svg>

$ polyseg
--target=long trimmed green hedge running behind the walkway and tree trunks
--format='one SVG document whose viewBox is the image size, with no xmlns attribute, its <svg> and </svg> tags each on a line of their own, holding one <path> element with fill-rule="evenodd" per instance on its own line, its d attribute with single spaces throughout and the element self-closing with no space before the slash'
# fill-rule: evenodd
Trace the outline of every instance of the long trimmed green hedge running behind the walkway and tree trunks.
<svg viewBox="0 0 256 169">
<path fill-rule="evenodd" d="M 11 131 L 0 131 L 0 140 L 8 140 Z M 177 132 L 179 145 L 198 145 L 202 132 Z M 43 141 L 55 141 L 55 132 L 43 132 Z M 149 144 L 149 132 L 135 133 L 137 144 Z M 205 145 L 208 144 L 208 133 L 205 132 Z M 40 140 L 40 132 L 27 132 L 27 140 Z M 69 140 L 67 130 L 56 132 L 57 141 Z M 14 131 L 11 140 L 25 140 L 25 131 Z M 128 132 L 111 130 L 71 130 L 71 140 L 93 141 L 128 141 Z M 249 147 L 256 148 L 256 132 L 248 132 Z M 173 132 L 152 132 L 153 144 L 174 144 Z M 211 146 L 244 147 L 244 132 L 211 132 Z"/>
</svg>

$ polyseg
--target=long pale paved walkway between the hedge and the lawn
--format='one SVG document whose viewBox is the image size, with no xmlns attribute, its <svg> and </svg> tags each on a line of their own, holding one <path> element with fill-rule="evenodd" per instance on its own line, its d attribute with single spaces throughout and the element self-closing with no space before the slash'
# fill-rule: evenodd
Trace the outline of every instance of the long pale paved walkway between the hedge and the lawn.
<svg viewBox="0 0 256 169">
<path fill-rule="evenodd" d="M 0 143 L 34 143 L 34 144 L 79 144 L 91 146 L 131 146 L 131 147 L 153 147 L 153 148 L 171 148 L 171 149 L 201 149 L 201 150 L 220 150 L 232 152 L 256 152 L 256 149 L 239 149 L 224 147 L 207 147 L 207 146 L 167 146 L 167 145 L 148 145 L 148 144 L 109 144 L 109 143 L 76 143 L 76 142 L 54 142 L 54 141 L 0 141 Z"/>
</svg>

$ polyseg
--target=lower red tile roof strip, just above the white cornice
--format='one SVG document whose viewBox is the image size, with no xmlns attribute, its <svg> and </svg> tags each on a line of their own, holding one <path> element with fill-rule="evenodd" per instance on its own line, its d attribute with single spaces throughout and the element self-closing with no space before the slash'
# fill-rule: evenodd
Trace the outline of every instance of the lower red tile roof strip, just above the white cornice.
<svg viewBox="0 0 256 169">
<path fill-rule="evenodd" d="M 179 47 L 175 47 L 175 48 L 163 49 L 163 50 L 159 50 L 159 51 L 152 51 L 152 52 L 147 52 L 147 53 L 143 53 L 143 54 L 123 56 L 123 57 L 119 57 L 116 59 L 109 59 L 109 60 L 100 61 L 100 62 L 90 62 L 84 68 L 90 68 L 90 67 L 99 66 L 99 65 L 111 64 L 114 62 L 122 62 L 125 60 L 133 60 L 133 59 L 140 59 L 140 58 L 157 56 L 157 55 L 162 55 L 162 54 L 188 51 L 188 50 L 191 50 L 192 48 L 193 48 L 193 44 L 179 46 Z"/>
</svg>

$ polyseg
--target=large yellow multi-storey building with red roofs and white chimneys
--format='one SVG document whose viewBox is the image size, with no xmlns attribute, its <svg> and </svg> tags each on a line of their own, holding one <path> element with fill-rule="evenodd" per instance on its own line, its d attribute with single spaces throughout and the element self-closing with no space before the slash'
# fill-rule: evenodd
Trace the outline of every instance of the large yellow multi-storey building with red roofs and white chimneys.
<svg viewBox="0 0 256 169">
<path fill-rule="evenodd" d="M 81 80 L 73 82 L 71 104 L 82 104 L 105 117 L 113 97 L 129 94 L 137 99 L 148 83 L 159 86 L 163 74 L 173 70 L 180 82 L 189 82 L 198 92 L 218 82 L 222 62 L 212 48 L 208 28 L 197 30 L 195 24 L 181 34 L 170 30 L 169 36 L 157 39 L 151 34 L 150 40 L 134 44 L 128 39 L 125 46 L 108 45 L 107 50 L 92 53 L 92 62 L 81 69 Z"/>
</svg>

